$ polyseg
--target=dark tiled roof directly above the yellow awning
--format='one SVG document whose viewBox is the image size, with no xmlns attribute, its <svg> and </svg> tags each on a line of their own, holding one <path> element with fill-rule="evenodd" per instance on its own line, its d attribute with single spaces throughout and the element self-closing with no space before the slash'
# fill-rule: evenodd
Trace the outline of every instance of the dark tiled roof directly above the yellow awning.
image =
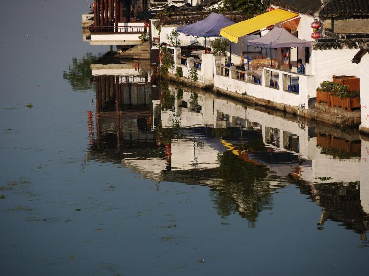
<svg viewBox="0 0 369 276">
<path fill-rule="evenodd" d="M 321 0 L 271 0 L 271 3 L 294 12 L 314 15 L 322 7 Z"/>
</svg>

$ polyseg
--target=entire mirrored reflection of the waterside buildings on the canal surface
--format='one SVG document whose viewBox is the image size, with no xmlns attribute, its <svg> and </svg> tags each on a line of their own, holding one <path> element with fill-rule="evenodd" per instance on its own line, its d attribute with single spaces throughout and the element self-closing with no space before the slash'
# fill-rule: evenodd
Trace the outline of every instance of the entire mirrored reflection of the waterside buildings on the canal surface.
<svg viewBox="0 0 369 276">
<path fill-rule="evenodd" d="M 250 227 L 273 208 L 278 188 L 295 184 L 323 207 L 318 229 L 340 221 L 366 240 L 369 147 L 357 131 L 156 84 L 150 70 L 108 72 L 92 72 L 88 161 L 121 164 L 157 182 L 208 185 L 218 215 L 237 212 Z"/>
</svg>

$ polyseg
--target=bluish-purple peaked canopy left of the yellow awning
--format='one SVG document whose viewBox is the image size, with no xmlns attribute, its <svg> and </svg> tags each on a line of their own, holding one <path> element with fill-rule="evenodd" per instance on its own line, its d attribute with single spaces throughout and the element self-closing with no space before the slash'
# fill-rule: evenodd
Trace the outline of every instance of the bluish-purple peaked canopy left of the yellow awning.
<svg viewBox="0 0 369 276">
<path fill-rule="evenodd" d="M 177 27 L 177 31 L 187 36 L 218 37 L 220 29 L 233 24 L 234 22 L 229 20 L 224 15 L 213 12 L 201 21 Z"/>
</svg>

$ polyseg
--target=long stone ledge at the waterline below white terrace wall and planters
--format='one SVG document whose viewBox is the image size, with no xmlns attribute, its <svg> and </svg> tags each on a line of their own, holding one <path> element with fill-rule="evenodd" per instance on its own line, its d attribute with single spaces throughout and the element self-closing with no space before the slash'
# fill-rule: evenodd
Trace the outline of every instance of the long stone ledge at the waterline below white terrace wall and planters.
<svg viewBox="0 0 369 276">
<path fill-rule="evenodd" d="M 270 100 L 260 99 L 253 96 L 241 95 L 235 92 L 226 91 L 220 88 L 214 88 L 214 91 L 231 98 L 252 103 L 254 105 L 266 106 L 272 109 L 281 110 L 301 118 L 312 119 L 325 124 L 337 126 L 337 127 L 356 127 L 361 123 L 361 117 L 358 118 L 347 118 L 342 115 L 323 112 L 314 109 L 301 109 L 296 106 L 290 106 L 281 103 L 275 103 Z"/>
</svg>

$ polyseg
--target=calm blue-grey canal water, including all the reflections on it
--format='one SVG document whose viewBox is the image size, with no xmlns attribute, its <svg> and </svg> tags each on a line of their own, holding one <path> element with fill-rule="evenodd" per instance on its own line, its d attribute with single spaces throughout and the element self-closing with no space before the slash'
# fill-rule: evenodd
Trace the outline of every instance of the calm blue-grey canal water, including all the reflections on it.
<svg viewBox="0 0 369 276">
<path fill-rule="evenodd" d="M 368 274 L 368 138 L 104 69 L 83 1 L 0 4 L 1 275 Z"/>
</svg>

